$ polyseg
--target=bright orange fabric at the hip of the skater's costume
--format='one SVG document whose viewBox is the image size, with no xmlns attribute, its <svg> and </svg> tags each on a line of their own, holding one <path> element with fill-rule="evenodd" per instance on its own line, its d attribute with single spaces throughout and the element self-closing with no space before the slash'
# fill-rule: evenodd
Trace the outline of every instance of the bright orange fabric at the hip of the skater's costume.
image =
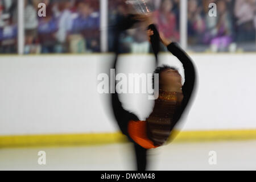
<svg viewBox="0 0 256 182">
<path fill-rule="evenodd" d="M 134 142 L 138 143 L 143 148 L 156 148 L 154 143 L 147 138 L 147 123 L 146 121 L 129 121 L 128 133 Z"/>
</svg>

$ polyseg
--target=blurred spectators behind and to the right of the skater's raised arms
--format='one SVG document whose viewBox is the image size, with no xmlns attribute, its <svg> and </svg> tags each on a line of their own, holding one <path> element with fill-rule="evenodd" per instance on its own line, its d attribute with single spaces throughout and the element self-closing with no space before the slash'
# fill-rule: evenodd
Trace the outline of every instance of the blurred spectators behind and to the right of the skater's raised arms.
<svg viewBox="0 0 256 182">
<path fill-rule="evenodd" d="M 122 0 L 109 1 L 112 22 L 127 14 Z M 166 38 L 179 42 L 180 0 L 153 2 L 154 21 L 159 30 Z M 217 16 L 209 15 L 213 8 L 209 7 L 210 3 L 215 3 Z M 236 51 L 240 45 L 245 45 L 242 47 L 245 51 L 246 48 L 248 51 L 256 51 L 256 0 L 188 0 L 187 18 L 188 46 L 191 49 L 200 47 L 200 51 Z M 138 44 L 141 45 L 139 47 L 148 46 L 147 39 L 142 38 L 138 31 L 129 31 L 123 35 L 123 52 L 140 50 Z M 111 32 L 109 38 L 113 39 Z M 146 48 L 142 50 L 148 51 Z"/>
</svg>

